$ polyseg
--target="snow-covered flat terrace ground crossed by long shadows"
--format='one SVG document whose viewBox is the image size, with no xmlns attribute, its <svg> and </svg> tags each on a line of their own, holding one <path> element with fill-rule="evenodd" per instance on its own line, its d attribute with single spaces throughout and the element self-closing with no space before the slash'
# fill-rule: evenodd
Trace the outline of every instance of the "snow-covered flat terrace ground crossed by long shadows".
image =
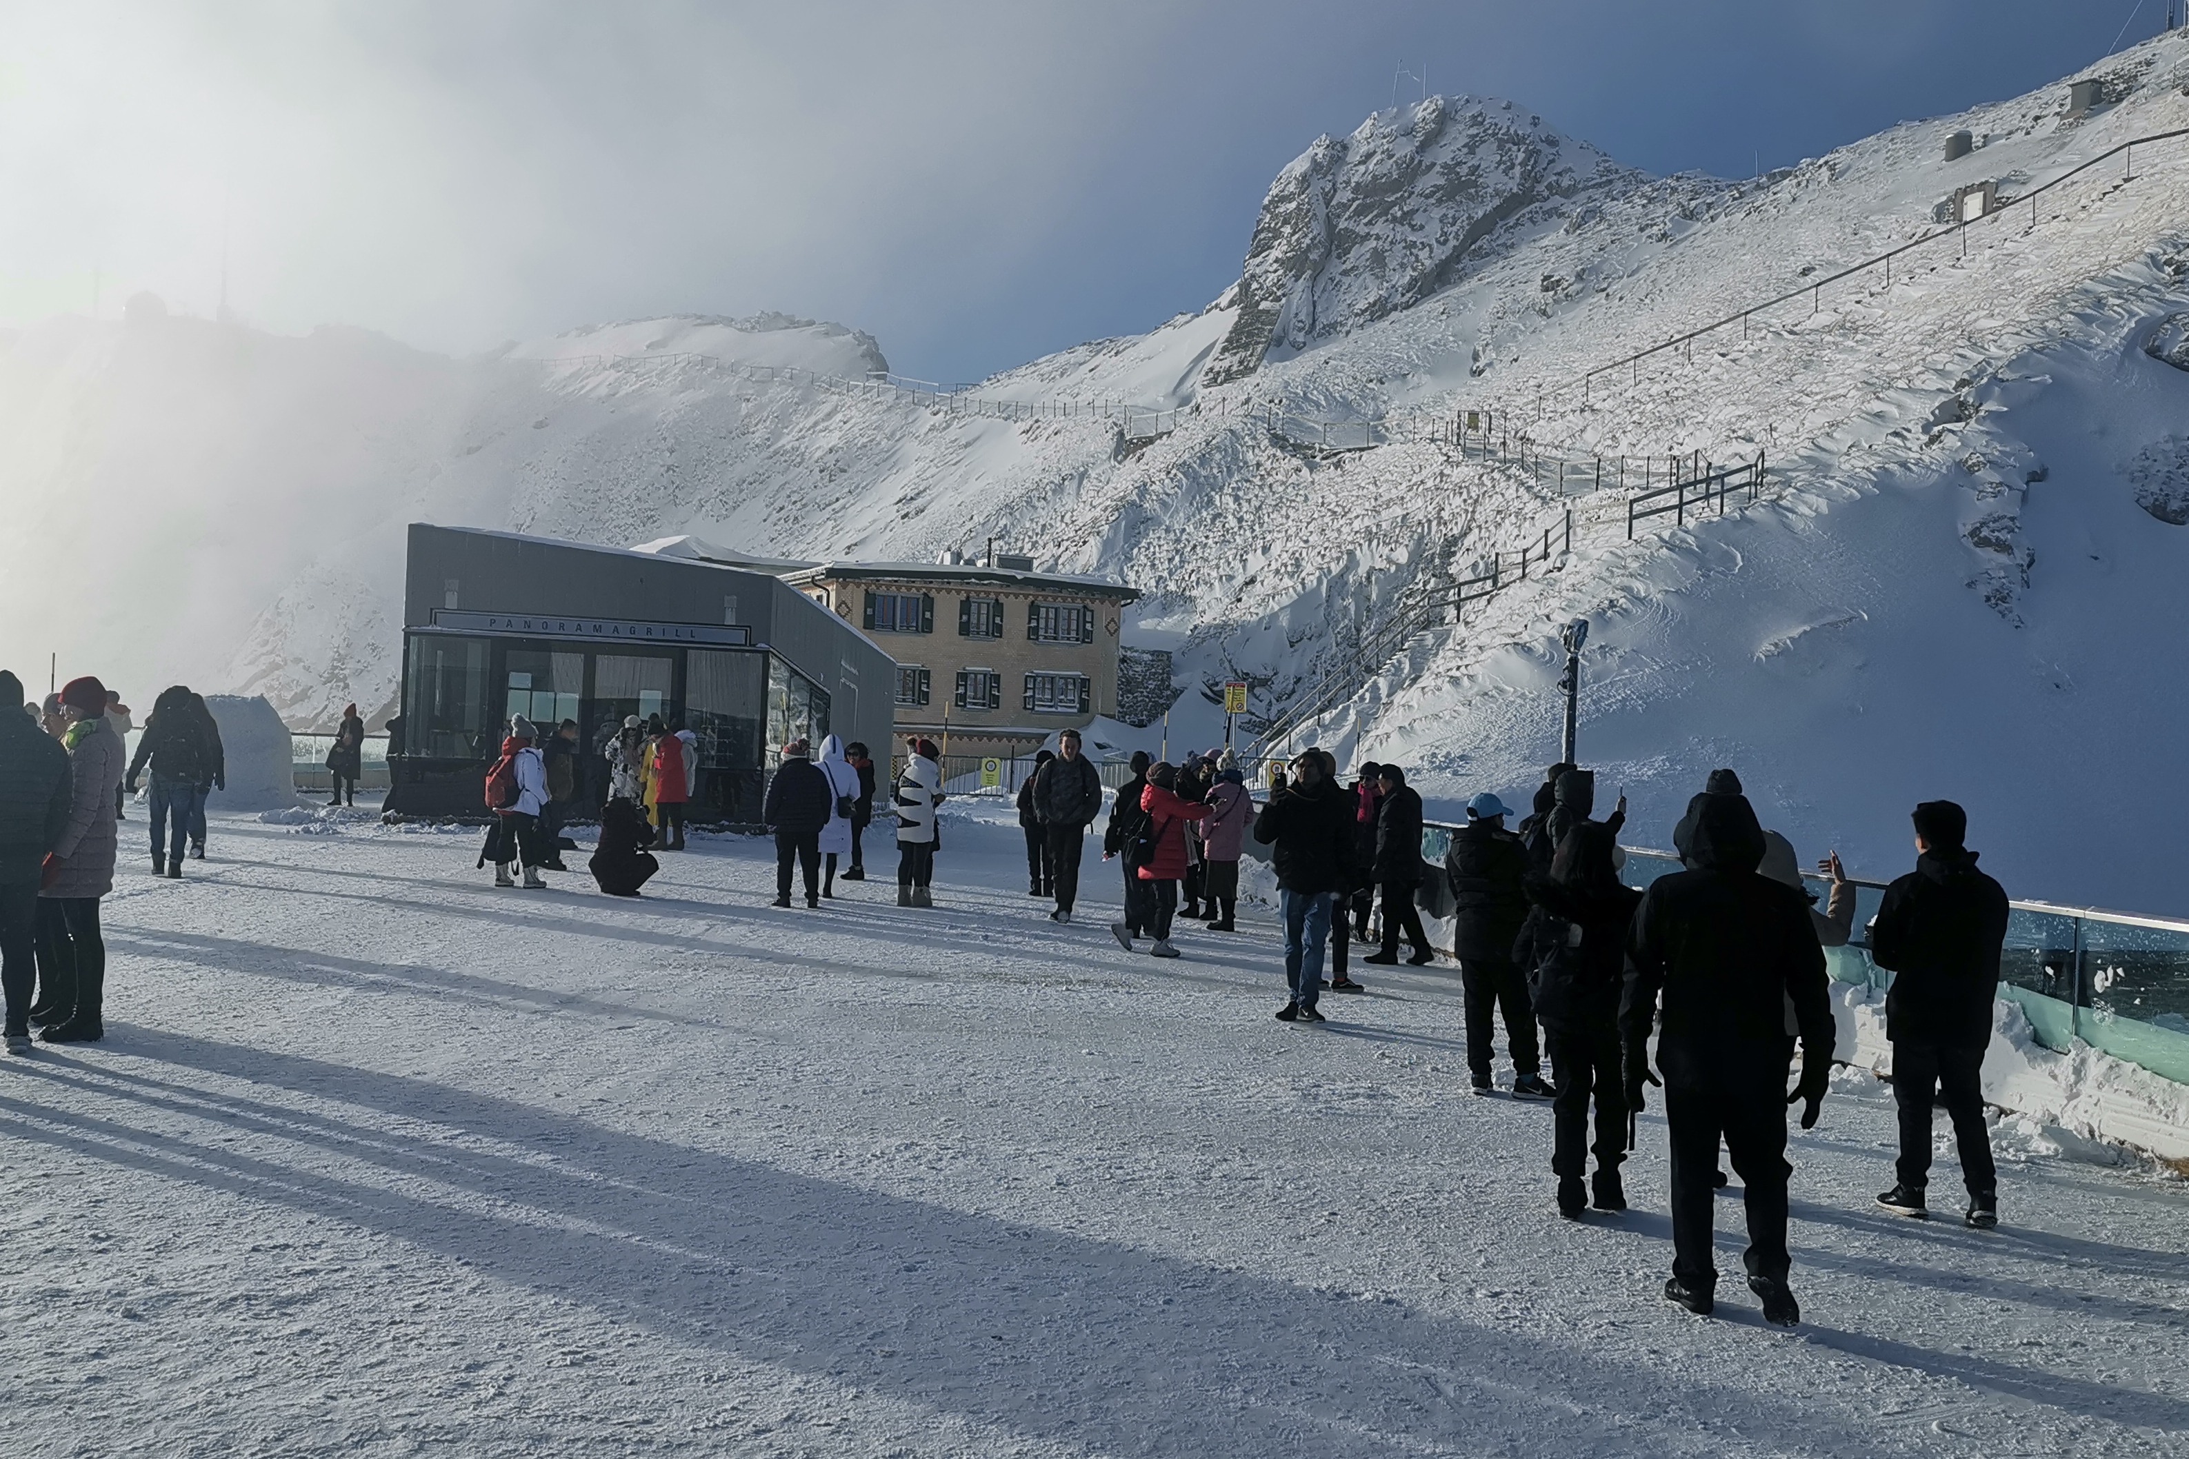
<svg viewBox="0 0 2189 1459">
<path fill-rule="evenodd" d="M 2180 1181 L 2007 1146 L 2005 1229 L 1900 1223 L 1850 1074 L 1795 1140 L 1808 1323 L 1731 1277 L 1699 1321 L 1657 1297 L 1655 1111 L 1635 1210 L 1561 1223 L 1548 1109 L 1460 1094 L 1449 971 L 1283 1026 L 1267 927 L 1127 958 L 1110 868 L 1059 930 L 1016 827 L 959 812 L 935 912 L 887 882 L 775 912 L 740 838 L 641 903 L 359 822 L 127 862 L 109 1041 L 0 1061 L 0 1448 L 2189 1444 Z"/>
</svg>

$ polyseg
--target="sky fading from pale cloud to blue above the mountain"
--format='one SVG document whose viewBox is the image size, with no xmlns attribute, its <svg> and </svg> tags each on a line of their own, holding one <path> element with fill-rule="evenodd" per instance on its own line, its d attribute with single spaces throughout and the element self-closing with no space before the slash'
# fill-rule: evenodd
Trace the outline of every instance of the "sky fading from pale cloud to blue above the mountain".
<svg viewBox="0 0 2189 1459">
<path fill-rule="evenodd" d="M 1200 308 L 1394 92 L 1747 175 L 2053 81 L 2167 0 L 0 0 L 0 322 L 136 289 L 436 350 L 790 313 L 978 378 Z M 2126 33 L 2123 33 L 2126 22 Z"/>
</svg>

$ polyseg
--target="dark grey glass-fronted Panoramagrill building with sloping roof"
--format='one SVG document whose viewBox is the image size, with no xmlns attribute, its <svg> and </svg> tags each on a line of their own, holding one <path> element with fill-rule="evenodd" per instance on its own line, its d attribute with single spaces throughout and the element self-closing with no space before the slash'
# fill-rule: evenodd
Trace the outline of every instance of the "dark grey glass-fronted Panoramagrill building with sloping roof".
<svg viewBox="0 0 2189 1459">
<path fill-rule="evenodd" d="M 887 763 L 895 663 L 781 580 L 466 527 L 409 529 L 403 722 L 387 809 L 479 816 L 510 715 L 578 724 L 580 816 L 609 792 L 626 715 L 698 737 L 696 822 L 757 825 L 799 735 L 867 742 Z"/>
</svg>

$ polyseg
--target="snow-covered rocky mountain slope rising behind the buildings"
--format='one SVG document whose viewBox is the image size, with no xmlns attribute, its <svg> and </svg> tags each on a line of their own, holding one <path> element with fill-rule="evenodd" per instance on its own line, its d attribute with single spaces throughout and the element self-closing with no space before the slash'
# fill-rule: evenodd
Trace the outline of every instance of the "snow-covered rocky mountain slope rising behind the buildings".
<svg viewBox="0 0 2189 1459">
<path fill-rule="evenodd" d="M 131 696 L 267 691 L 296 724 L 394 696 L 403 525 L 792 558 L 994 536 L 1149 591 L 1200 687 L 1276 709 L 1394 602 L 1559 507 L 1421 422 L 1495 409 L 1572 455 L 1769 455 L 1738 518 L 1644 532 L 1578 501 L 1574 553 L 1414 637 L 1318 733 L 1416 766 L 1449 807 L 1554 757 L 1552 626 L 1591 615 L 1585 757 L 1664 842 L 1701 772 L 1863 873 L 1948 794 L 2025 895 L 2189 910 L 2163 759 L 2189 682 L 2189 147 L 2141 149 L 1957 241 L 1633 370 L 1596 365 L 2189 127 L 2189 42 L 1909 122 L 1747 182 L 1657 179 L 1497 101 L 1429 98 L 1322 138 L 1270 190 L 1206 311 L 943 409 L 816 376 L 887 370 L 841 326 L 641 319 L 475 359 L 357 330 L 276 339 L 134 311 L 0 339 L 0 650 Z M 1974 147 L 1946 160 L 1953 131 Z M 1156 440 L 1097 402 L 1175 411 Z M 1386 418 L 1366 451 L 1313 420 Z M 1412 422 L 1412 427 L 1410 427 Z M 1335 437 L 1346 440 L 1340 429 Z M 1373 667 L 1373 665 L 1370 665 Z M 1200 728 L 1193 728 L 1195 715 Z"/>
</svg>

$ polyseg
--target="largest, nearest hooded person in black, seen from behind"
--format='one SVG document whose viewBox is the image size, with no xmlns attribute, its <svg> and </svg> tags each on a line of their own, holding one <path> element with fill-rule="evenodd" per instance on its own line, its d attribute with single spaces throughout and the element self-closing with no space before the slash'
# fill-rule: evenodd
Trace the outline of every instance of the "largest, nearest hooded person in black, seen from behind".
<svg viewBox="0 0 2189 1459">
<path fill-rule="evenodd" d="M 1745 1186 L 1749 1288 L 1764 1321 L 1793 1326 L 1802 1308 L 1786 1288 L 1786 1105 L 1802 1100 L 1802 1129 L 1815 1127 L 1832 1078 L 1823 947 L 1802 892 L 1756 873 L 1764 829 L 1747 798 L 1703 803 L 1690 857 L 1694 871 L 1659 877 L 1635 910 L 1620 1002 L 1629 1116 L 1642 1109 L 1642 1085 L 1661 1083 L 1672 1140 L 1675 1256 L 1664 1295 L 1699 1315 L 1714 1306 L 1710 1199 L 1723 1137 Z M 1793 1096 L 1788 1004 L 1802 1035 Z M 1648 1072 L 1653 1022 L 1661 1081 Z"/>
</svg>

